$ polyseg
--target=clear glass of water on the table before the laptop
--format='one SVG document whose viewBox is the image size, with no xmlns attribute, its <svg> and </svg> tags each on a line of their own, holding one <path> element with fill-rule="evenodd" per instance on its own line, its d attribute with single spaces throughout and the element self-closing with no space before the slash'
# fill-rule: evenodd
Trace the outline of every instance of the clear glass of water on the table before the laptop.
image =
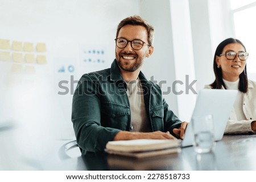
<svg viewBox="0 0 256 182">
<path fill-rule="evenodd" d="M 194 147 L 196 153 L 209 153 L 213 151 L 215 145 L 213 116 L 204 115 L 193 117 L 192 128 L 195 137 Z"/>
</svg>

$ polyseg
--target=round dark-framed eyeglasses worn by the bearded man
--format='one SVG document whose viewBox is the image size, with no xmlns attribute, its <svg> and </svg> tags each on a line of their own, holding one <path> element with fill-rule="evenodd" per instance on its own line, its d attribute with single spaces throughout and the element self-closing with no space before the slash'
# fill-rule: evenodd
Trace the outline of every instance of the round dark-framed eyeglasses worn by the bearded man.
<svg viewBox="0 0 256 182">
<path fill-rule="evenodd" d="M 139 40 L 139 39 L 134 39 L 134 40 L 126 40 L 126 39 L 123 39 L 123 38 L 115 39 L 115 45 L 117 45 L 117 47 L 120 48 L 120 49 L 125 48 L 129 42 L 131 43 L 131 47 L 134 50 L 141 49 L 144 44 L 151 46 L 150 44 L 147 44 L 144 41 Z"/>
</svg>

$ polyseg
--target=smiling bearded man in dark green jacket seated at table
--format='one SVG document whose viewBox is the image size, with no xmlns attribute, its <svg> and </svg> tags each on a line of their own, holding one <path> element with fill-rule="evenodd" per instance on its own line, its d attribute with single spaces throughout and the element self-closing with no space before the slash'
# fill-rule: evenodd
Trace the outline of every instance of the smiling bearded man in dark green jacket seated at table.
<svg viewBox="0 0 256 182">
<path fill-rule="evenodd" d="M 141 73 L 154 51 L 154 28 L 140 16 L 117 28 L 110 69 L 84 74 L 73 96 L 72 122 L 85 151 L 102 151 L 108 141 L 183 138 L 187 122 L 168 110 L 162 91 Z"/>
</svg>

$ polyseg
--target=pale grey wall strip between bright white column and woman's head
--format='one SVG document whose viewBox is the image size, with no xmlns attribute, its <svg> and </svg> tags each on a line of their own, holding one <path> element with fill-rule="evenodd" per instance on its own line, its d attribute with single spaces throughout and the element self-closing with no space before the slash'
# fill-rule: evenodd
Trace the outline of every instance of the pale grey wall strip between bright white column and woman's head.
<svg viewBox="0 0 256 182">
<path fill-rule="evenodd" d="M 213 81 L 208 1 L 189 1 L 197 90 Z M 212 79 L 209 79 L 209 75 Z"/>
</svg>

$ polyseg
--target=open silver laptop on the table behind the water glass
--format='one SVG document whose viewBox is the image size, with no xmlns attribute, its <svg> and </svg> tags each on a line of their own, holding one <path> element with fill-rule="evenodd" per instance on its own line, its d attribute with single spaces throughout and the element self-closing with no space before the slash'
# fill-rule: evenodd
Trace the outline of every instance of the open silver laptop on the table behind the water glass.
<svg viewBox="0 0 256 182">
<path fill-rule="evenodd" d="M 237 98 L 237 92 L 237 90 L 203 89 L 197 95 L 192 118 L 212 114 L 215 141 L 220 141 L 224 135 L 230 112 Z M 193 141 L 191 120 L 187 125 L 181 147 L 192 146 Z"/>
</svg>

